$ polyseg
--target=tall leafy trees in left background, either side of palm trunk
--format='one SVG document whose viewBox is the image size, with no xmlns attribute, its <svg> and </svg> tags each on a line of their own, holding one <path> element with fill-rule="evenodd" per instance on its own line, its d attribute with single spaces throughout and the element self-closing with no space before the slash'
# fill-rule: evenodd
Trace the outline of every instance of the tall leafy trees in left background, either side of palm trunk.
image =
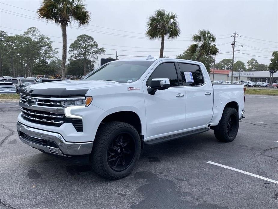
<svg viewBox="0 0 278 209">
<path fill-rule="evenodd" d="M 60 75 L 62 60 L 49 37 L 36 27 L 29 27 L 22 35 L 8 36 L 0 31 L 0 76 Z M 80 35 L 69 46 L 71 54 L 67 73 L 82 76 L 94 69 L 98 55 L 105 53 L 93 37 Z"/>
</svg>

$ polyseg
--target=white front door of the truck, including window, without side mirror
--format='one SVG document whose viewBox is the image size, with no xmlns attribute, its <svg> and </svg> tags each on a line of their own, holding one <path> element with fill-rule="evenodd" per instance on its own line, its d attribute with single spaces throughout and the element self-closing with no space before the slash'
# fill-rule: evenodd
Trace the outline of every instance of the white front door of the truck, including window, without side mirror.
<svg viewBox="0 0 278 209">
<path fill-rule="evenodd" d="M 158 63 L 154 71 L 144 82 L 144 99 L 146 110 L 145 140 L 171 135 L 171 132 L 184 129 L 185 126 L 185 95 L 179 88 L 178 66 L 175 62 Z M 148 94 L 148 86 L 154 78 L 169 78 L 170 88 Z"/>
</svg>

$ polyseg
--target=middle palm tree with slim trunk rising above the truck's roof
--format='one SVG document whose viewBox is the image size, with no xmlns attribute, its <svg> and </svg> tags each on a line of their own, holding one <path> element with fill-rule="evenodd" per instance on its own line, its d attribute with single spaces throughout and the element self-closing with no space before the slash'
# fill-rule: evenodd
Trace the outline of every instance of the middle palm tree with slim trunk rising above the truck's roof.
<svg viewBox="0 0 278 209">
<path fill-rule="evenodd" d="M 149 39 L 161 38 L 160 58 L 163 57 L 165 36 L 168 39 L 179 37 L 181 31 L 177 17 L 174 12 L 166 12 L 164 9 L 159 9 L 148 17 L 146 35 Z"/>
</svg>

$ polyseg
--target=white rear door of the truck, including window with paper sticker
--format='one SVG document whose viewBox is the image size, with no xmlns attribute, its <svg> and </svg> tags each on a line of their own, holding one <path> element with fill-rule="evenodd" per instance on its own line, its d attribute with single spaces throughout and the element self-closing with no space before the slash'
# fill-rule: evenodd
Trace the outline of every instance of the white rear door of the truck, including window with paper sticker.
<svg viewBox="0 0 278 209">
<path fill-rule="evenodd" d="M 207 72 L 194 62 L 178 62 L 178 65 L 186 97 L 185 129 L 205 126 L 213 114 L 213 91 Z"/>
</svg>

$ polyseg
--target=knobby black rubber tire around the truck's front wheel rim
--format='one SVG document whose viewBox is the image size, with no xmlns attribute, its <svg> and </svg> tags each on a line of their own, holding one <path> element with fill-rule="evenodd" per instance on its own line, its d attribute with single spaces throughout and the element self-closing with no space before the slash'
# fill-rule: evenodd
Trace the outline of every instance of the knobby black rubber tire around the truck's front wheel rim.
<svg viewBox="0 0 278 209">
<path fill-rule="evenodd" d="M 121 134 L 126 134 L 130 137 L 132 145 L 134 146 L 134 149 L 133 146 L 131 148 L 133 149 L 134 154 L 132 160 L 130 158 L 129 165 L 127 166 L 124 164 L 124 166 L 127 166 L 126 168 L 123 170 L 115 170 L 114 167 L 111 166 L 110 162 L 108 162 L 108 155 L 110 153 L 111 144 L 115 143 L 115 138 Z M 117 149 L 118 148 L 116 148 L 116 150 Z M 96 173 L 107 179 L 116 180 L 130 174 L 139 160 L 140 152 L 141 140 L 137 130 L 133 126 L 128 123 L 118 121 L 108 122 L 103 124 L 96 133 L 96 137 L 93 142 L 92 154 L 90 155 L 90 162 Z"/>
</svg>

